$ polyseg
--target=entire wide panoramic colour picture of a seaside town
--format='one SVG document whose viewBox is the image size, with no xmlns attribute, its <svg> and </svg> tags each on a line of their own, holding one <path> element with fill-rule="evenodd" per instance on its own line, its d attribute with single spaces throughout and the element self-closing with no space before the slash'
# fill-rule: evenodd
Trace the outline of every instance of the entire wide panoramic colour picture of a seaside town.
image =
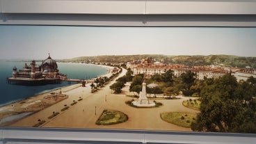
<svg viewBox="0 0 256 144">
<path fill-rule="evenodd" d="M 256 28 L 0 33 L 0 127 L 256 133 Z"/>
</svg>

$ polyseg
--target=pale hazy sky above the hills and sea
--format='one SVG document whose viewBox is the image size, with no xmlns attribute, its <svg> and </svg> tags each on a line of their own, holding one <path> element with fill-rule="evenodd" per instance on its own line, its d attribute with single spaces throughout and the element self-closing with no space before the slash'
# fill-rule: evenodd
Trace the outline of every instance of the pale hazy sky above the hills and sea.
<svg viewBox="0 0 256 144">
<path fill-rule="evenodd" d="M 256 28 L 0 25 L 0 59 L 228 54 L 256 56 Z"/>
</svg>

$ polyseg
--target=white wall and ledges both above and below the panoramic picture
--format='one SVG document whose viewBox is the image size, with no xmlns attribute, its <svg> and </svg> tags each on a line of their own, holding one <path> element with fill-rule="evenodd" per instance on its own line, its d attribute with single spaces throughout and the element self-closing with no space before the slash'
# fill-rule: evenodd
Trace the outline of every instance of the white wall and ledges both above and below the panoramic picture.
<svg viewBox="0 0 256 144">
<path fill-rule="evenodd" d="M 0 24 L 255 27 L 256 1 L 0 0 Z M 255 141 L 255 134 L 0 127 L 0 143 L 219 144 Z"/>
</svg>

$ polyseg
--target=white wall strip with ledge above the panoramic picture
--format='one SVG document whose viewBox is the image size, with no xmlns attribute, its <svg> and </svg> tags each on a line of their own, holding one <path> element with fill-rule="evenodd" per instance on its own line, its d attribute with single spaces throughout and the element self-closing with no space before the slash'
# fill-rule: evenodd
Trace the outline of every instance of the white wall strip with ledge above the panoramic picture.
<svg viewBox="0 0 256 144">
<path fill-rule="evenodd" d="M 0 24 L 256 26 L 255 0 L 0 0 Z"/>
</svg>

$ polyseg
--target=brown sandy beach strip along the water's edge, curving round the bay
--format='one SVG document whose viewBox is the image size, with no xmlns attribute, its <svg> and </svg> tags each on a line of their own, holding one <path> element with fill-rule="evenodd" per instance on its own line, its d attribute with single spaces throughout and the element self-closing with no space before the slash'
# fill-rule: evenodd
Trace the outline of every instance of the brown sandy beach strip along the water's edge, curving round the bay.
<svg viewBox="0 0 256 144">
<path fill-rule="evenodd" d="M 76 64 L 76 63 L 74 63 L 74 64 Z M 80 64 L 80 63 L 77 63 L 77 64 Z M 83 63 L 81 63 L 81 64 L 83 64 Z M 88 65 L 94 65 L 94 64 L 88 64 Z M 110 67 L 108 65 L 96 65 L 96 66 L 105 67 L 106 70 L 108 71 L 106 74 L 103 74 L 98 77 L 110 77 L 111 76 L 111 70 L 113 69 L 113 67 Z M 87 84 L 92 83 L 94 79 L 97 79 L 97 77 L 95 77 L 93 79 L 86 79 Z M 42 109 L 46 109 L 49 106 L 52 106 L 54 104 L 57 104 L 58 102 L 68 99 L 68 95 L 65 98 L 58 97 L 58 99 L 57 100 L 55 99 L 55 101 L 53 99 L 45 99 L 45 97 L 47 97 L 47 96 L 49 97 L 49 95 L 52 95 L 52 93 L 58 94 L 58 93 L 60 93 L 60 90 L 63 93 L 67 93 L 68 91 L 73 90 L 75 88 L 79 88 L 79 87 L 81 87 L 81 83 L 73 83 L 69 86 L 62 86 L 62 87 L 50 89 L 47 91 L 44 90 L 44 91 L 42 91 L 42 93 L 35 94 L 31 97 L 27 97 L 25 99 L 19 99 L 14 102 L 8 102 L 7 104 L 3 104 L 0 106 L 0 126 L 11 125 L 13 122 L 16 122 L 17 120 L 22 120 L 23 118 L 26 118 L 26 116 L 29 116 L 29 115 L 25 115 L 22 118 L 19 118 L 17 116 L 17 119 L 6 121 L 3 123 L 1 123 L 1 120 L 6 120 L 6 119 L 8 120 L 8 118 L 15 117 L 15 115 L 20 115 L 22 113 L 28 113 L 28 112 L 30 112 L 31 114 L 37 113 L 38 111 L 41 111 Z"/>
</svg>

